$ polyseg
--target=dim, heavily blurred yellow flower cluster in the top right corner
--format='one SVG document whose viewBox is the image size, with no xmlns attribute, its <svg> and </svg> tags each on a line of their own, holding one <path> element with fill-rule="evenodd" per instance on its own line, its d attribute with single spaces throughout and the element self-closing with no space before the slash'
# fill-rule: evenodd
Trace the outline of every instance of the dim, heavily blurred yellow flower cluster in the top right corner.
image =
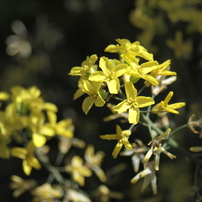
<svg viewBox="0 0 202 202">
<path fill-rule="evenodd" d="M 175 31 L 174 39 L 165 39 L 165 45 L 174 51 L 176 59 L 187 59 L 191 55 L 194 38 L 184 41 L 183 35 L 202 34 L 201 19 L 201 1 L 198 0 L 137 0 L 130 13 L 131 23 L 142 30 L 138 40 L 150 50 L 157 48 L 153 45 L 155 37 L 166 36 L 178 23 L 180 28 Z"/>
</svg>

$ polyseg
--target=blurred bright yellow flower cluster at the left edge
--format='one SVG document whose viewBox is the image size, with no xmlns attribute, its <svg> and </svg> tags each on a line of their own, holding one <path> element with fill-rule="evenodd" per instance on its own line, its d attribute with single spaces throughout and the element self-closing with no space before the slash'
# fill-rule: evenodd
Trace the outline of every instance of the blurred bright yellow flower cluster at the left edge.
<svg viewBox="0 0 202 202">
<path fill-rule="evenodd" d="M 40 95 L 36 86 L 14 86 L 11 93 L 0 92 L 0 157 L 12 155 L 22 159 L 26 175 L 30 175 L 32 168 L 41 168 L 35 148 L 44 146 L 56 135 L 73 137 L 71 119 L 57 122 L 56 105 L 45 102 Z M 10 148 L 13 140 L 22 147 Z"/>
</svg>

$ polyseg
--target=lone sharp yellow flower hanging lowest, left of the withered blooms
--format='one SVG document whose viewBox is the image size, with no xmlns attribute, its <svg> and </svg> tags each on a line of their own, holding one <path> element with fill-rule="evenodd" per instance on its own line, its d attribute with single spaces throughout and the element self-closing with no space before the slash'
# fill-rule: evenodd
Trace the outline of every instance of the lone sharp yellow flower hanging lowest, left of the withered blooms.
<svg viewBox="0 0 202 202">
<path fill-rule="evenodd" d="M 131 135 L 130 130 L 123 130 L 119 125 L 116 125 L 116 134 L 110 135 L 101 135 L 100 138 L 104 140 L 117 140 L 117 144 L 112 152 L 112 156 L 116 158 L 121 151 L 121 148 L 124 147 L 127 149 L 132 149 L 130 142 L 128 141 L 129 136 Z"/>
</svg>

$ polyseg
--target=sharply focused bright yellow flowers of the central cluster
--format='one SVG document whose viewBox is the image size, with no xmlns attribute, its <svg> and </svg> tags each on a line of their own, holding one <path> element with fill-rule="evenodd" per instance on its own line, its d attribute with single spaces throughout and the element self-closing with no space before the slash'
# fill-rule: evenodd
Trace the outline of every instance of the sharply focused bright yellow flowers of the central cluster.
<svg viewBox="0 0 202 202">
<path fill-rule="evenodd" d="M 79 89 L 74 95 L 74 99 L 83 94 L 88 96 L 84 99 L 82 109 L 85 114 L 89 112 L 93 104 L 102 107 L 111 98 L 119 99 L 121 102 L 112 106 L 114 113 L 127 117 L 130 124 L 137 124 L 140 121 L 140 108 L 151 107 L 155 103 L 154 96 L 139 96 L 141 91 L 150 87 L 153 95 L 158 95 L 167 85 L 176 80 L 176 73 L 169 70 L 170 60 L 159 64 L 138 41 L 131 43 L 127 39 L 117 39 L 118 44 L 106 47 L 106 52 L 118 53 L 118 59 L 100 57 L 99 64 L 97 55 L 87 57 L 82 62 L 81 67 L 73 67 L 69 73 L 72 76 L 80 76 L 78 81 Z M 164 82 L 166 76 L 171 76 L 170 81 Z M 143 88 L 137 90 L 136 83 L 143 80 Z M 163 84 L 164 82 L 164 84 Z M 156 89 L 158 87 L 158 89 Z M 125 92 L 125 93 L 124 93 Z M 117 97 L 119 96 L 119 97 Z M 185 105 L 184 102 L 168 104 L 173 92 L 170 92 L 164 101 L 156 104 L 151 110 L 153 113 L 161 114 L 165 112 L 179 113 L 176 109 Z M 112 117 L 111 117 L 112 118 Z M 131 148 L 128 138 L 129 133 L 122 132 L 117 126 L 116 135 L 104 135 L 102 139 L 116 139 L 118 143 L 113 151 L 116 158 L 122 145 Z"/>
</svg>

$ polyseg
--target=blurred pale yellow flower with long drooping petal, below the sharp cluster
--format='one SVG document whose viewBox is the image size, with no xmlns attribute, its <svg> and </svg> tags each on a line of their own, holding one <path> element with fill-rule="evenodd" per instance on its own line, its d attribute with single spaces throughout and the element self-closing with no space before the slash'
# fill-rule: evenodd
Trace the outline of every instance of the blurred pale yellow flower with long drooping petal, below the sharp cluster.
<svg viewBox="0 0 202 202">
<path fill-rule="evenodd" d="M 96 154 L 94 154 L 93 145 L 89 145 L 86 148 L 85 165 L 86 167 L 95 172 L 95 174 L 98 176 L 101 182 L 105 182 L 107 180 L 104 171 L 101 169 L 101 162 L 103 160 L 104 155 L 105 154 L 103 151 L 99 151 Z"/>
</svg>

